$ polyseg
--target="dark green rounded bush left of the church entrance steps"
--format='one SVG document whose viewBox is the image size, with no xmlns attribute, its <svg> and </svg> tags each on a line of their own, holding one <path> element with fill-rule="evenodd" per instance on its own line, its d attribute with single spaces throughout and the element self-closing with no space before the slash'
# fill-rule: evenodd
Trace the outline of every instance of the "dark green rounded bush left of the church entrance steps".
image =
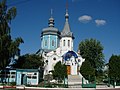
<svg viewBox="0 0 120 90">
<path fill-rule="evenodd" d="M 53 71 L 53 78 L 58 79 L 59 81 L 67 77 L 67 67 L 65 64 L 62 64 L 60 61 L 56 63 Z"/>
</svg>

